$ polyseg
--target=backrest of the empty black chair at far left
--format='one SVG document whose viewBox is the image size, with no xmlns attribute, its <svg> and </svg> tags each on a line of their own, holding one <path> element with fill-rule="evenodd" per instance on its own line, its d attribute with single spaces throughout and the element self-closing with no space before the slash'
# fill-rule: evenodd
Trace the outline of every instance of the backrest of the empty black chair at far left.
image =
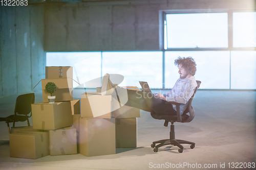
<svg viewBox="0 0 256 170">
<path fill-rule="evenodd" d="M 28 115 L 31 112 L 31 104 L 35 103 L 35 94 L 28 93 L 17 96 L 15 114 Z"/>
</svg>

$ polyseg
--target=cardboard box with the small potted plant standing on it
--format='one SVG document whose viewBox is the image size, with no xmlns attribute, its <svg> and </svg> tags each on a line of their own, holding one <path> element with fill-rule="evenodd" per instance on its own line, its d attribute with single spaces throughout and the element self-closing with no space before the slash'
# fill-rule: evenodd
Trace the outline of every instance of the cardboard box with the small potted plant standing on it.
<svg viewBox="0 0 256 170">
<path fill-rule="evenodd" d="M 36 103 L 31 108 L 33 129 L 55 130 L 73 124 L 70 102 Z"/>
</svg>

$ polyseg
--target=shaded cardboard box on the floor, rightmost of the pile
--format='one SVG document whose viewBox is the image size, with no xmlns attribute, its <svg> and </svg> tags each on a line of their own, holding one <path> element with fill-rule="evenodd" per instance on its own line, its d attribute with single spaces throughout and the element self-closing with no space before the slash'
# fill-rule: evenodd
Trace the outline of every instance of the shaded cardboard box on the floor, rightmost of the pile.
<svg viewBox="0 0 256 170">
<path fill-rule="evenodd" d="M 116 148 L 137 147 L 137 118 L 116 118 Z"/>
</svg>

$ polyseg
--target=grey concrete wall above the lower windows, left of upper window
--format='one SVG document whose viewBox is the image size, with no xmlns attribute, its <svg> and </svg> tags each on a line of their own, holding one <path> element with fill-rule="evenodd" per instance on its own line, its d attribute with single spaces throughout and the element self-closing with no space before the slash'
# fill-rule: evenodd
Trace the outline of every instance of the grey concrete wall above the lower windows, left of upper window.
<svg viewBox="0 0 256 170">
<path fill-rule="evenodd" d="M 159 50 L 159 10 L 223 8 L 254 8 L 254 0 L 148 0 L 47 5 L 45 50 Z"/>
</svg>

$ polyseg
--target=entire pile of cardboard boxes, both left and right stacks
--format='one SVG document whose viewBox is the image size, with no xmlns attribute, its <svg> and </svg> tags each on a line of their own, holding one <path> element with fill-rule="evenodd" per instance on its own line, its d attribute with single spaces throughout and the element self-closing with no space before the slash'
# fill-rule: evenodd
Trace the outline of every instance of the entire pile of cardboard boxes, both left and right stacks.
<svg viewBox="0 0 256 170">
<path fill-rule="evenodd" d="M 85 92 L 73 99 L 72 67 L 46 67 L 42 103 L 32 104 L 32 127 L 10 134 L 10 156 L 37 159 L 47 155 L 80 153 L 84 156 L 115 154 L 116 148 L 137 147 L 140 110 L 122 106 L 111 95 Z M 55 103 L 49 104 L 45 85 L 54 82 Z M 139 90 L 138 88 L 133 88 Z M 73 125 L 73 126 L 72 126 Z"/>
</svg>

